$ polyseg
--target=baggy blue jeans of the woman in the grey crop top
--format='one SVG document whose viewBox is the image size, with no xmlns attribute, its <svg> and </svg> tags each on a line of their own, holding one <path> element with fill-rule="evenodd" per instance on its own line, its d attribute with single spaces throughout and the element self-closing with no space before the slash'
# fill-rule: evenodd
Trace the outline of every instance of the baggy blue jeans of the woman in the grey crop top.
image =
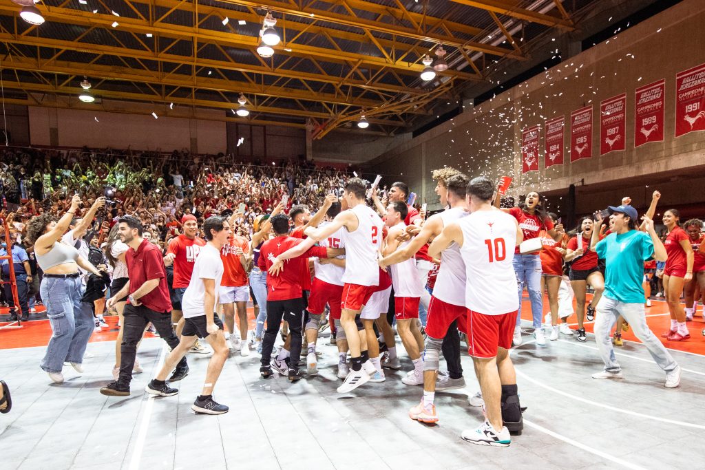
<svg viewBox="0 0 705 470">
<path fill-rule="evenodd" d="M 47 372 L 61 372 L 65 361 L 81 364 L 95 323 L 90 304 L 81 302 L 80 278 L 44 276 L 39 292 L 53 333 L 39 366 Z"/>
</svg>

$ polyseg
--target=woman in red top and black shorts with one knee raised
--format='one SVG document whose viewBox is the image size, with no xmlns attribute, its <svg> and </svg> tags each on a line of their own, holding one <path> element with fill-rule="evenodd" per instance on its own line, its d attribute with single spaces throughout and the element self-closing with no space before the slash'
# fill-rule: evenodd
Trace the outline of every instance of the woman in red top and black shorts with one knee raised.
<svg viewBox="0 0 705 470">
<path fill-rule="evenodd" d="M 594 222 L 591 217 L 585 217 L 580 223 L 580 233 L 572 237 L 566 247 L 565 261 L 572 261 L 570 265 L 570 285 L 575 292 L 577 313 L 577 340 L 587 341 L 583 320 L 585 316 L 585 292 L 587 285 L 591 285 L 595 293 L 592 302 L 587 306 L 587 320 L 595 319 L 595 305 L 602 297 L 605 290 L 605 279 L 597 266 L 597 253 L 590 249 L 590 237 Z M 582 240 L 581 240 L 582 239 Z"/>
</svg>

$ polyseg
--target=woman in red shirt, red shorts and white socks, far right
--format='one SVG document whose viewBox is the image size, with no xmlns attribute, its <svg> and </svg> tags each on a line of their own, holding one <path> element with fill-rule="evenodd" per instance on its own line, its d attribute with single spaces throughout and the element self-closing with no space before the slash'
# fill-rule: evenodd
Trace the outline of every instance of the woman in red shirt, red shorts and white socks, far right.
<svg viewBox="0 0 705 470">
<path fill-rule="evenodd" d="M 666 252 L 668 260 L 663 268 L 663 290 L 666 292 L 666 302 L 670 311 L 670 330 L 661 335 L 669 341 L 685 341 L 690 339 L 690 333 L 685 326 L 685 311 L 680 304 L 680 293 L 687 281 L 693 278 L 693 248 L 685 230 L 678 224 L 680 214 L 675 209 L 663 213 L 663 225 L 666 225 Z"/>
</svg>

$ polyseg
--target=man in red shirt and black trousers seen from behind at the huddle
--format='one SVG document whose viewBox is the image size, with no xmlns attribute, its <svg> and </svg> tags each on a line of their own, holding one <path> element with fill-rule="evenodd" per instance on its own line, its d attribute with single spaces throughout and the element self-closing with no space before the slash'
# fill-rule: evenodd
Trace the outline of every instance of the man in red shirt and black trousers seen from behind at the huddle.
<svg viewBox="0 0 705 470">
<path fill-rule="evenodd" d="M 262 271 L 268 271 L 271 268 L 276 256 L 303 242 L 301 239 L 288 236 L 288 216 L 278 214 L 270 218 L 269 221 L 276 236 L 264 242 L 264 245 L 259 249 L 257 266 Z M 282 319 L 286 319 L 289 323 L 291 333 L 289 335 L 289 355 L 294 359 L 291 361 L 289 361 L 288 357 L 274 359 L 274 361 L 271 361 L 271 365 L 282 375 L 288 376 L 290 381 L 298 381 L 302 377 L 298 370 L 298 359 L 301 354 L 302 343 L 301 328 L 305 311 L 302 299 L 302 266 L 306 262 L 304 260 L 309 256 L 328 258 L 329 256 L 338 256 L 338 254 L 343 254 L 343 252 L 343 249 L 311 247 L 301 256 L 289 259 L 288 266 L 283 271 L 274 274 L 269 273 L 267 276 L 267 321 L 264 339 L 262 340 L 262 367 L 259 368 L 259 373 L 262 374 L 262 377 L 267 378 L 272 374 L 270 366 L 271 348 L 274 346 L 277 333 L 279 333 L 279 324 Z M 285 313 L 287 314 L 286 316 L 284 316 Z"/>
</svg>

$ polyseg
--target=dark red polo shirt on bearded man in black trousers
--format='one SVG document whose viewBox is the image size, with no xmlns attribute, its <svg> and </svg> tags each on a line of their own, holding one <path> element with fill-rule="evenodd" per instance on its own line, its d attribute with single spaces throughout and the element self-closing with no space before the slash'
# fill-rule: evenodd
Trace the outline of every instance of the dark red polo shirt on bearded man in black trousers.
<svg viewBox="0 0 705 470">
<path fill-rule="evenodd" d="M 159 279 L 157 287 L 147 295 L 140 297 L 139 302 L 150 310 L 168 314 L 171 312 L 169 287 L 166 285 L 166 268 L 161 259 L 161 249 L 147 240 L 142 240 L 140 247 L 130 248 L 125 252 L 125 264 L 128 265 L 130 276 L 130 295 L 142 287 L 150 279 Z"/>
</svg>

